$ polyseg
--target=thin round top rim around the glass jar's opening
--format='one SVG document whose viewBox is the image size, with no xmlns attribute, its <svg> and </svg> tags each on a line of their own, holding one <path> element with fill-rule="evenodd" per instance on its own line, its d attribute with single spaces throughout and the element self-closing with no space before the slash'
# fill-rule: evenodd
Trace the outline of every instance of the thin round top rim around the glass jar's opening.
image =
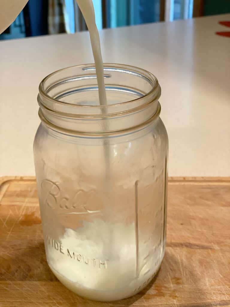
<svg viewBox="0 0 230 307">
<path fill-rule="evenodd" d="M 82 67 L 82 70 L 83 70 L 83 68 L 84 68 L 84 70 L 85 69 L 87 69 L 87 70 L 89 70 L 89 69 L 93 70 L 94 69 L 95 70 L 95 64 L 92 63 L 92 64 L 73 65 L 73 66 L 61 68 L 59 70 L 56 70 L 55 72 L 50 73 L 49 75 L 44 77 L 44 79 L 40 82 L 40 84 L 39 84 L 39 95 L 42 95 L 45 99 L 48 99 L 48 100 L 51 99 L 54 103 L 56 103 L 56 104 L 58 104 L 60 106 L 64 106 L 64 107 L 70 106 L 70 107 L 76 108 L 76 109 L 77 108 L 79 108 L 79 109 L 81 109 L 81 108 L 82 109 L 83 108 L 87 108 L 87 109 L 94 108 L 94 109 L 97 109 L 97 110 L 103 110 L 103 109 L 109 110 L 109 109 L 112 109 L 112 107 L 125 106 L 125 105 L 130 104 L 130 103 L 132 103 L 134 101 L 136 102 L 136 101 L 141 101 L 141 100 L 144 100 L 144 99 L 146 100 L 146 99 L 148 99 L 148 97 L 151 97 L 151 100 L 159 99 L 159 96 L 160 96 L 160 86 L 159 86 L 157 78 L 151 72 L 148 72 L 147 70 L 145 70 L 143 68 L 139 68 L 139 67 L 132 66 L 132 65 L 127 65 L 127 64 L 103 63 L 103 66 L 104 66 L 104 72 L 106 72 L 107 68 L 109 70 L 111 70 L 111 68 L 114 68 L 117 71 L 121 71 L 121 72 L 127 72 L 128 69 L 130 69 L 130 72 L 128 72 L 128 73 L 133 73 L 133 74 L 135 74 L 137 76 L 139 75 L 140 77 L 144 77 L 148 81 L 151 81 L 152 88 L 151 88 L 151 90 L 148 93 L 146 93 L 145 95 L 143 95 L 141 97 L 138 97 L 136 99 L 128 100 L 128 101 L 121 102 L 121 103 L 108 104 L 108 105 L 100 105 L 100 104 L 98 104 L 98 105 L 80 105 L 80 104 L 75 104 L 75 103 L 66 103 L 66 102 L 62 102 L 62 101 L 60 101 L 58 99 L 55 99 L 55 98 L 51 97 L 50 95 L 48 95 L 46 93 L 46 90 L 44 89 L 44 83 L 49 78 L 51 78 L 52 76 L 55 76 L 59 72 L 67 71 L 67 70 L 69 70 L 71 68 L 81 68 Z M 152 99 L 152 95 L 155 96 L 154 97 L 155 99 Z"/>
</svg>

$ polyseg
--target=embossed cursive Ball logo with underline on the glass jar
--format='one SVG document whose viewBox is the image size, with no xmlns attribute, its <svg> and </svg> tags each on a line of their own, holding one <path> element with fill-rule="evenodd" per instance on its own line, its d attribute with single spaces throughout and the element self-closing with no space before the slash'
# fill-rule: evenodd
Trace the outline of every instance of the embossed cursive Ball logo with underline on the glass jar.
<svg viewBox="0 0 230 307">
<path fill-rule="evenodd" d="M 51 209 L 72 209 L 71 212 L 61 212 L 60 214 L 89 214 L 100 212 L 94 210 L 95 191 L 79 189 L 73 197 L 63 195 L 59 184 L 51 180 L 44 179 L 41 182 L 43 203 Z M 74 209 L 74 210 L 73 210 Z"/>
</svg>

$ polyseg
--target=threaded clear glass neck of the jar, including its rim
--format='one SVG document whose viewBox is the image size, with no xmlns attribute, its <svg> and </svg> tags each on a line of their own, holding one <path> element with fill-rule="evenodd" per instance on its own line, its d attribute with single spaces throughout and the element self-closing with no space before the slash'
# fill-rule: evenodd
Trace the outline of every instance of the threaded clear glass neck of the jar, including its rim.
<svg viewBox="0 0 230 307">
<path fill-rule="evenodd" d="M 45 125 L 71 134 L 114 134 L 141 129 L 159 116 L 160 86 L 151 73 L 104 64 L 107 105 L 100 106 L 93 64 L 48 75 L 39 86 L 39 116 Z"/>
</svg>

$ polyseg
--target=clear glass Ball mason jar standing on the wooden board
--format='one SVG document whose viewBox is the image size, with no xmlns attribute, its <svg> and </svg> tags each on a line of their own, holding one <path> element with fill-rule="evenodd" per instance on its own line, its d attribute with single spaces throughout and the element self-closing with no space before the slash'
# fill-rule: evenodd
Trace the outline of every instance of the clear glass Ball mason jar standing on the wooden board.
<svg viewBox="0 0 230 307">
<path fill-rule="evenodd" d="M 93 64 L 39 86 L 34 161 L 47 262 L 75 293 L 129 297 L 158 272 L 166 243 L 168 138 L 151 73 Z"/>
</svg>

